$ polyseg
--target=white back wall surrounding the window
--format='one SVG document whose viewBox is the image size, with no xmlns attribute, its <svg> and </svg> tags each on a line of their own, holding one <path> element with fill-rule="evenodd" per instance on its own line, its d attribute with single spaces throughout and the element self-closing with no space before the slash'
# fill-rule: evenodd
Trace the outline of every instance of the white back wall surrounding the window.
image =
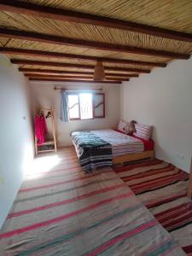
<svg viewBox="0 0 192 256">
<path fill-rule="evenodd" d="M 102 91 L 106 94 L 106 118 L 73 120 L 68 123 L 61 122 L 61 96 L 59 90 L 53 90 L 55 84 L 65 88 L 103 88 Z M 116 128 L 119 122 L 119 84 L 75 84 L 67 82 L 55 84 L 31 82 L 31 91 L 34 113 L 36 113 L 39 108 L 53 107 L 55 109 L 55 125 L 59 146 L 67 146 L 71 144 L 71 131 Z"/>
</svg>

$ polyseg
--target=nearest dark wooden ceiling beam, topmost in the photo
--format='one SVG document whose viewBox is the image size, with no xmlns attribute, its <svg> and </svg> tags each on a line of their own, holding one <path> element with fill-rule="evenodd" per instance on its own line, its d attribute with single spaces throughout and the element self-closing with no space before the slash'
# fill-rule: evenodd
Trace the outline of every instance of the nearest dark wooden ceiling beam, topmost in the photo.
<svg viewBox="0 0 192 256">
<path fill-rule="evenodd" d="M 177 32 L 156 26 L 148 26 L 136 22 L 117 20 L 98 15 L 84 14 L 65 9 L 55 9 L 33 3 L 23 3 L 17 0 L 2 0 L 0 3 L 0 9 L 3 11 L 14 12 L 20 15 L 32 15 L 54 20 L 64 20 L 68 22 L 90 24 L 94 26 L 117 28 L 120 30 L 139 32 L 161 38 L 192 42 L 192 34 L 186 32 Z"/>
</svg>

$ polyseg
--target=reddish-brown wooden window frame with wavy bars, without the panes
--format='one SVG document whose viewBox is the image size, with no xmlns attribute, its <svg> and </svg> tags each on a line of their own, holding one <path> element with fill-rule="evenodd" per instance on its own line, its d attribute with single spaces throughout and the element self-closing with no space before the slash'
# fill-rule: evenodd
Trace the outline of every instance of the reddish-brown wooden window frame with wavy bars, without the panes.
<svg viewBox="0 0 192 256">
<path fill-rule="evenodd" d="M 91 119 L 81 119 L 81 111 L 80 111 L 80 97 L 79 97 L 79 94 L 81 93 L 88 93 L 88 94 L 91 94 L 92 95 L 92 118 L 91 119 L 102 119 L 102 118 L 105 118 L 105 93 L 103 92 L 100 92 L 100 93 L 90 93 L 90 92 L 69 92 L 67 93 L 67 95 L 75 95 L 75 96 L 78 96 L 78 99 L 79 99 L 79 102 L 76 103 L 78 106 L 79 106 L 79 118 L 70 118 L 70 109 L 69 106 L 68 106 L 68 116 L 69 116 L 69 120 L 70 121 L 77 121 L 77 120 L 91 120 Z M 103 102 L 97 104 L 96 108 L 98 108 L 100 106 L 100 104 L 103 104 L 103 115 L 102 116 L 96 116 L 95 115 L 95 105 L 94 105 L 94 96 L 95 95 L 102 95 L 103 97 Z M 76 105 L 74 104 L 73 107 Z"/>
</svg>

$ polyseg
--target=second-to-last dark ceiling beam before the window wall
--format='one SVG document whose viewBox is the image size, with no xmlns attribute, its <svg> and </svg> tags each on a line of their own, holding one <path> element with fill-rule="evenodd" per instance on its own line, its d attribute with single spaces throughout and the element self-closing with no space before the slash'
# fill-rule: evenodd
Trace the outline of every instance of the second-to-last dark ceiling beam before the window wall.
<svg viewBox="0 0 192 256">
<path fill-rule="evenodd" d="M 25 76 L 27 78 L 40 78 L 40 79 L 93 79 L 92 76 L 61 76 L 61 75 L 45 75 L 45 74 L 37 74 L 37 73 L 26 73 Z M 108 78 L 106 76 L 106 80 L 113 81 L 129 81 L 130 79 L 123 78 Z"/>
</svg>

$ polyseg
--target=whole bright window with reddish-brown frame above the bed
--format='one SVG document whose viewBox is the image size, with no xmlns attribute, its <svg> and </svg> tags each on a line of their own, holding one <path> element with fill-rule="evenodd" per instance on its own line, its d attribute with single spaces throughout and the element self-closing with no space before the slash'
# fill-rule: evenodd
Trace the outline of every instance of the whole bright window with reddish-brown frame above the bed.
<svg viewBox="0 0 192 256">
<path fill-rule="evenodd" d="M 103 93 L 68 94 L 70 120 L 96 119 L 105 117 L 105 95 Z"/>
</svg>

